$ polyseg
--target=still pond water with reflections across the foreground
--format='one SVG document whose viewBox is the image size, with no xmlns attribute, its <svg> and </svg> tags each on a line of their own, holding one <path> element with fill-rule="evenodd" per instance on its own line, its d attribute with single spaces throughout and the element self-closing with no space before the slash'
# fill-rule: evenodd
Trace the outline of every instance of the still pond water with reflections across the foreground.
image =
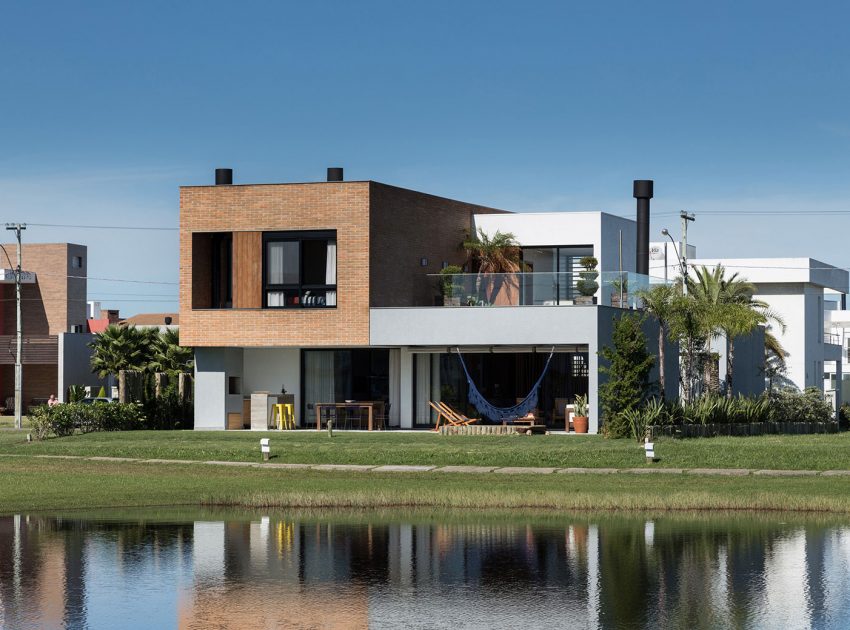
<svg viewBox="0 0 850 630">
<path fill-rule="evenodd" d="M 847 628 L 850 523 L 782 515 L 0 517 L 3 628 Z"/>
</svg>

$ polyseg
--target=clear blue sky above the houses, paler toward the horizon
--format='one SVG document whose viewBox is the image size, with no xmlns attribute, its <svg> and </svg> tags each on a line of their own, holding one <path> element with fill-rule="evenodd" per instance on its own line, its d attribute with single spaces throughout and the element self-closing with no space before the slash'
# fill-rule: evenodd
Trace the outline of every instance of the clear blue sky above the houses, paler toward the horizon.
<svg viewBox="0 0 850 630">
<path fill-rule="evenodd" d="M 178 186 L 217 166 L 630 215 L 651 178 L 702 256 L 850 266 L 850 214 L 711 215 L 850 212 L 848 23 L 844 2 L 7 3 L 0 220 L 176 226 Z M 26 238 L 88 245 L 92 277 L 177 281 L 173 232 Z M 177 306 L 176 284 L 89 293 Z"/>
</svg>

